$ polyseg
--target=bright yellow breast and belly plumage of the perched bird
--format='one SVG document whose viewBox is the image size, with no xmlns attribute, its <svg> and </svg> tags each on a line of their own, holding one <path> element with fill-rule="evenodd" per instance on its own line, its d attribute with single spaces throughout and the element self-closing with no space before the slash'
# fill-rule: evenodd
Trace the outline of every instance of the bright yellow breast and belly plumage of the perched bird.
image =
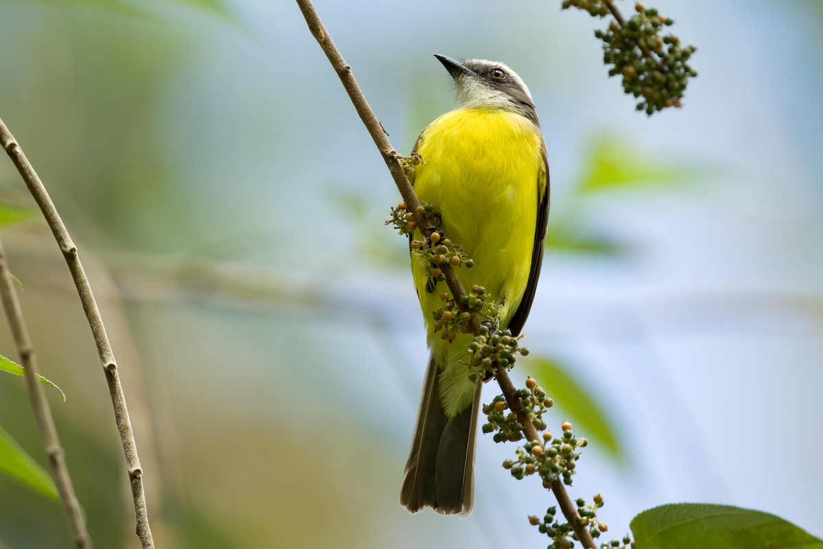
<svg viewBox="0 0 823 549">
<path fill-rule="evenodd" d="M 517 310 L 528 283 L 542 198 L 545 168 L 542 137 L 528 119 L 502 109 L 458 109 L 425 128 L 417 151 L 413 183 L 417 196 L 435 205 L 442 229 L 474 259 L 472 269 L 458 268 L 463 286 L 486 287 L 500 305 L 505 326 Z M 445 342 L 432 329 L 432 312 L 442 307 L 440 282 L 426 290 L 428 271 L 412 261 L 417 295 L 429 331 L 429 347 L 441 372 L 441 402 L 454 416 L 472 402 L 477 385 L 468 379 L 470 336 Z"/>
</svg>

